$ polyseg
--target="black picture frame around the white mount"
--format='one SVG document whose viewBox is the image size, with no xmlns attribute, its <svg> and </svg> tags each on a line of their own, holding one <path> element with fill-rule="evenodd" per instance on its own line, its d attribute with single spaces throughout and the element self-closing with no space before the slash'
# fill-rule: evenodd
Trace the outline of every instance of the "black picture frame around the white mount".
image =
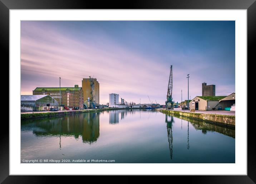
<svg viewBox="0 0 256 184">
<path fill-rule="evenodd" d="M 129 0 L 122 4 L 120 1 L 99 3 L 83 0 L 0 0 L 0 52 L 5 61 L 9 61 L 9 10 L 11 9 L 247 9 L 247 63 L 255 61 L 253 49 L 256 45 L 255 0 Z M 247 99 L 244 100 L 247 102 Z M 246 124 L 247 119 L 243 123 Z M 9 124 L 2 122 L 2 128 L 4 131 L 0 137 L 0 182 L 51 183 L 49 181 L 52 181 L 54 176 L 9 175 Z M 254 123 L 247 123 L 247 175 L 171 177 L 179 179 L 179 182 L 190 183 L 256 183 L 254 132 Z M 67 177 L 58 177 L 58 183 L 60 182 L 68 182 Z"/>
</svg>

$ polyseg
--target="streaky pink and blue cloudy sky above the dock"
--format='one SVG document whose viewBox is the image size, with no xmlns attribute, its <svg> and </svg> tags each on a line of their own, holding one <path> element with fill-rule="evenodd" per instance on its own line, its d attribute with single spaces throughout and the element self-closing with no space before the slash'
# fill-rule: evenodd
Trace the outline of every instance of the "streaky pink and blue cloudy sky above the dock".
<svg viewBox="0 0 256 184">
<path fill-rule="evenodd" d="M 164 104 L 170 65 L 175 102 L 188 99 L 187 74 L 191 99 L 203 82 L 235 92 L 235 21 L 21 21 L 21 94 L 92 76 L 100 104 L 109 93 Z"/>
</svg>

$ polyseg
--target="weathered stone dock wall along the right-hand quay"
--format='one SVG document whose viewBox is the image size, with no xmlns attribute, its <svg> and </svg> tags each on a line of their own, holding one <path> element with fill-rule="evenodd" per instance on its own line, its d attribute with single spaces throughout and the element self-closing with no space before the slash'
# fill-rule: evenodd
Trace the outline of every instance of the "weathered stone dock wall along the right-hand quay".
<svg viewBox="0 0 256 184">
<path fill-rule="evenodd" d="M 203 113 L 191 113 L 191 112 L 181 112 L 181 111 L 172 111 L 166 109 L 156 109 L 157 111 L 166 113 L 166 114 L 173 114 L 177 116 L 184 116 L 193 119 L 200 119 L 211 123 L 221 124 L 229 127 L 235 127 L 235 116 L 229 115 L 219 115 L 219 114 L 203 114 Z"/>
</svg>

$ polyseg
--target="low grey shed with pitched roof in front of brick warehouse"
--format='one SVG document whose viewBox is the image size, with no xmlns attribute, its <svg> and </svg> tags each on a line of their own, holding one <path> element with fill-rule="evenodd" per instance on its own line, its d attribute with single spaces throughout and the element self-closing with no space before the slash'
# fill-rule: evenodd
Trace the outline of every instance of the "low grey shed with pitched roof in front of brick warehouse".
<svg viewBox="0 0 256 184">
<path fill-rule="evenodd" d="M 58 108 L 58 101 L 47 94 L 21 95 L 21 111 L 43 111 L 50 108 Z"/>
</svg>

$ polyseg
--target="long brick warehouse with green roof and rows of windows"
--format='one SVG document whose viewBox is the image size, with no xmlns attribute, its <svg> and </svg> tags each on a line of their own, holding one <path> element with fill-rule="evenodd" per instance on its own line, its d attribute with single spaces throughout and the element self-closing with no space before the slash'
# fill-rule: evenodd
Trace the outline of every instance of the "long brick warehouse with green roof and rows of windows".
<svg viewBox="0 0 256 184">
<path fill-rule="evenodd" d="M 83 89 L 78 85 L 74 87 L 37 87 L 33 94 L 48 94 L 55 98 L 59 105 L 65 105 L 68 108 L 83 108 Z"/>
</svg>

